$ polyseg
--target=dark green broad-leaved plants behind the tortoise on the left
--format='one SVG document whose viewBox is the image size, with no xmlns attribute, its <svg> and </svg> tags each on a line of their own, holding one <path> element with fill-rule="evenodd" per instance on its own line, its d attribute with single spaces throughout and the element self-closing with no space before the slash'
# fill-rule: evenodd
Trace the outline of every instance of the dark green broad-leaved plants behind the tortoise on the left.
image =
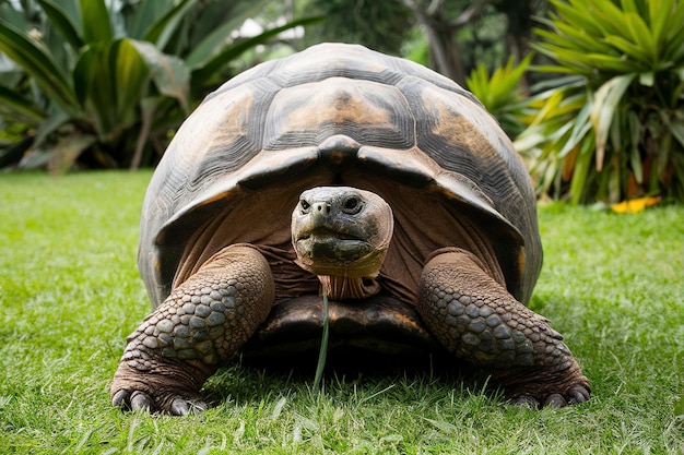
<svg viewBox="0 0 684 455">
<path fill-rule="evenodd" d="M 315 21 L 236 38 L 267 1 L 36 0 L 39 9 L 32 11 L 31 1 L 23 8 L 3 2 L 0 51 L 14 65 L 0 83 L 0 116 L 5 127 L 23 125 L 24 135 L 0 149 L 0 164 L 27 151 L 47 156 L 55 171 L 76 159 L 151 164 L 153 148 L 164 149 L 168 132 L 229 76 L 238 56 Z"/>
</svg>

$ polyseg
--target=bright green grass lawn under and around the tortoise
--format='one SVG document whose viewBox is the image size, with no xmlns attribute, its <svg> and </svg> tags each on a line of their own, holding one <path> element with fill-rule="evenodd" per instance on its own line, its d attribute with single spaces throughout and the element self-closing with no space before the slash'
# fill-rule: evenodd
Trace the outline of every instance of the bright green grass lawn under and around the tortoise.
<svg viewBox="0 0 684 455">
<path fill-rule="evenodd" d="M 593 397 L 534 411 L 440 374 L 231 367 L 187 418 L 122 414 L 109 381 L 149 311 L 135 268 L 150 173 L 0 176 L 0 453 L 684 453 L 684 207 L 540 208 L 531 307 Z"/>
</svg>

